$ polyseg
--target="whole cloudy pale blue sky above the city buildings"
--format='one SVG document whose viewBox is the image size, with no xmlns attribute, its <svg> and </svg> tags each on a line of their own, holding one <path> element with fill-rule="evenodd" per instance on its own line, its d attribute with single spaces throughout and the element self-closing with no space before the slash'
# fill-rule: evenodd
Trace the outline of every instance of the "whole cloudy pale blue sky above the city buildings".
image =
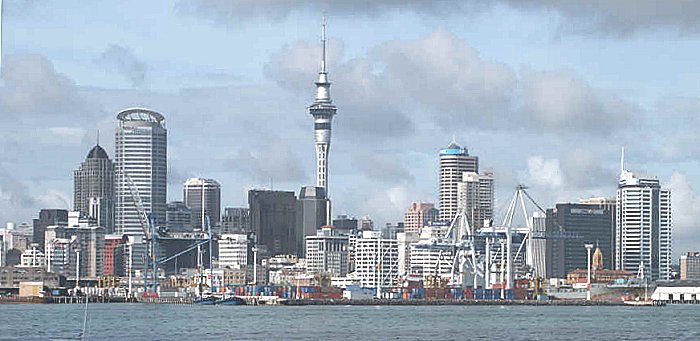
<svg viewBox="0 0 700 341">
<path fill-rule="evenodd" d="M 672 191 L 674 258 L 700 250 L 700 3 L 661 0 L 5 0 L 0 221 L 72 207 L 72 171 L 116 113 L 168 128 L 168 199 L 188 177 L 247 190 L 314 183 L 328 17 L 334 215 L 402 220 L 436 202 L 453 137 L 541 206 L 614 196 L 627 170 Z"/>
</svg>

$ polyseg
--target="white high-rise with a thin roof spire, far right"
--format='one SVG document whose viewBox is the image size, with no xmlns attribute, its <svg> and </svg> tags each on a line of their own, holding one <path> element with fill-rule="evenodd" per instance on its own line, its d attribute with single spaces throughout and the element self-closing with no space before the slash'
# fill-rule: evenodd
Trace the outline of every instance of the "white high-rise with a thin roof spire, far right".
<svg viewBox="0 0 700 341">
<path fill-rule="evenodd" d="M 671 278 L 671 191 L 656 177 L 622 170 L 617 189 L 615 269 Z"/>
</svg>

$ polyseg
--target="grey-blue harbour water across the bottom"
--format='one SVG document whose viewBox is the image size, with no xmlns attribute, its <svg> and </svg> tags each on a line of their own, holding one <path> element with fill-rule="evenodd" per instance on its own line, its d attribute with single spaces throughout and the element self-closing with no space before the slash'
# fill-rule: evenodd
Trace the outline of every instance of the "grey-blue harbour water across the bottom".
<svg viewBox="0 0 700 341">
<path fill-rule="evenodd" d="M 91 304 L 86 340 L 700 340 L 700 306 Z M 77 339 L 84 306 L 0 305 L 1 340 Z"/>
</svg>

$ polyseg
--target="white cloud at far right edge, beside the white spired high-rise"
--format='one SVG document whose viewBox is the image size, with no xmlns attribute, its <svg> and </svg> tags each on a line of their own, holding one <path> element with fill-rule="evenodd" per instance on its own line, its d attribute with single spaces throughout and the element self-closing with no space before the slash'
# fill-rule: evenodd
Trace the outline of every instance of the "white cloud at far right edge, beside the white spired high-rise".
<svg viewBox="0 0 700 341">
<path fill-rule="evenodd" d="M 684 173 L 674 172 L 666 187 L 671 190 L 673 253 L 677 258 L 682 253 L 700 249 L 697 240 L 700 196 Z"/>
</svg>

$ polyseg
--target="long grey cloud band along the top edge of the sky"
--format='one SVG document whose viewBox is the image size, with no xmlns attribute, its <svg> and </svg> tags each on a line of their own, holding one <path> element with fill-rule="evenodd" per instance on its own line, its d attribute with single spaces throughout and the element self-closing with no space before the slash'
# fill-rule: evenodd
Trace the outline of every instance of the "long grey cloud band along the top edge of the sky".
<svg viewBox="0 0 700 341">
<path fill-rule="evenodd" d="M 665 0 L 198 0 L 182 1 L 178 8 L 217 22 L 234 25 L 252 19 L 281 20 L 294 12 L 334 16 L 379 17 L 384 14 L 413 12 L 430 16 L 479 15 L 498 5 L 524 12 L 555 14 L 563 32 L 628 37 L 637 32 L 659 29 L 678 34 L 700 32 L 700 3 Z"/>
</svg>

